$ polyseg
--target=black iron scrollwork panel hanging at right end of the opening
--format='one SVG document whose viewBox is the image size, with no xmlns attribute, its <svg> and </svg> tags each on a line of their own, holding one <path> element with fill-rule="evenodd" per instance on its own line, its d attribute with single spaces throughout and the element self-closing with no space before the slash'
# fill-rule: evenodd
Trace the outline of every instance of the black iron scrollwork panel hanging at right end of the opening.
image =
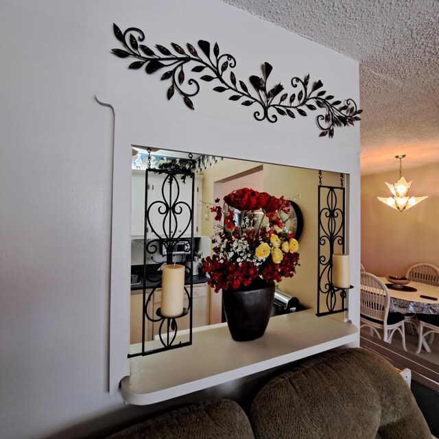
<svg viewBox="0 0 439 439">
<path fill-rule="evenodd" d="M 333 286 L 332 255 L 345 250 L 345 189 L 321 184 L 318 187 L 318 298 L 317 316 L 346 311 L 346 290 Z"/>
</svg>

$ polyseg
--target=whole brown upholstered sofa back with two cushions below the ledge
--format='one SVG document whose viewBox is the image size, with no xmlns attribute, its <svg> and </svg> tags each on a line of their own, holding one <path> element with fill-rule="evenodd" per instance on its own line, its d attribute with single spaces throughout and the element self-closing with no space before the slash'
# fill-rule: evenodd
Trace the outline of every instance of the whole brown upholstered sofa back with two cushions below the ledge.
<svg viewBox="0 0 439 439">
<path fill-rule="evenodd" d="M 227 399 L 148 419 L 111 439 L 431 439 L 407 384 L 379 355 L 330 351 L 270 380 L 247 416 Z"/>
</svg>

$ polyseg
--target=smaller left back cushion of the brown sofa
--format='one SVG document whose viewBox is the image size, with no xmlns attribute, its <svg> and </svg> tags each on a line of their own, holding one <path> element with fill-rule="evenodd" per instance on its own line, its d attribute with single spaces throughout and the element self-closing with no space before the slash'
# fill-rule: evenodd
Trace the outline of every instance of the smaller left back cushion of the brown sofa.
<svg viewBox="0 0 439 439">
<path fill-rule="evenodd" d="M 108 439 L 254 439 L 244 410 L 228 399 L 188 405 L 133 425 Z"/>
</svg>

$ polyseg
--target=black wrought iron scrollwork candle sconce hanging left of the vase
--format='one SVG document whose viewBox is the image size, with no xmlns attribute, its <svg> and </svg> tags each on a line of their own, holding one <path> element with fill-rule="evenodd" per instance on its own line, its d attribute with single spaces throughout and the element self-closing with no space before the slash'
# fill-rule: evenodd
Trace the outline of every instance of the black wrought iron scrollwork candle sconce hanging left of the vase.
<svg viewBox="0 0 439 439">
<path fill-rule="evenodd" d="M 145 170 L 145 220 L 144 220 L 144 252 L 143 252 L 143 314 L 142 314 L 142 342 L 141 352 L 132 353 L 128 357 L 150 355 L 174 348 L 181 348 L 192 344 L 192 300 L 193 300 L 193 207 L 195 186 L 195 161 L 189 154 L 188 161 L 169 161 L 161 165 L 159 169 L 152 169 L 150 160 L 151 150 L 148 150 L 148 167 Z M 165 174 L 160 190 L 155 188 L 154 193 L 160 194 L 160 198 L 149 200 L 150 189 L 149 176 L 151 173 Z M 180 198 L 180 185 L 191 185 L 191 204 L 189 205 Z M 152 217 L 155 221 L 152 221 Z M 161 220 L 158 222 L 157 218 Z M 159 226 L 157 226 L 159 224 Z M 190 230 L 190 238 L 187 232 Z M 157 272 L 150 272 L 147 268 L 147 259 L 156 252 L 166 254 L 166 263 L 174 263 L 177 243 L 185 235 L 189 243 L 189 282 L 185 285 L 185 296 L 188 306 L 183 308 L 182 314 L 176 317 L 165 317 L 161 314 L 161 308 L 154 313 L 154 295 L 162 287 L 162 276 Z M 185 276 L 187 278 L 187 276 Z M 187 340 L 176 340 L 178 333 L 178 320 L 189 314 L 189 334 Z M 147 322 L 158 325 L 158 341 L 161 346 L 147 350 L 145 329 Z M 155 345 L 156 346 L 156 345 Z"/>
</svg>

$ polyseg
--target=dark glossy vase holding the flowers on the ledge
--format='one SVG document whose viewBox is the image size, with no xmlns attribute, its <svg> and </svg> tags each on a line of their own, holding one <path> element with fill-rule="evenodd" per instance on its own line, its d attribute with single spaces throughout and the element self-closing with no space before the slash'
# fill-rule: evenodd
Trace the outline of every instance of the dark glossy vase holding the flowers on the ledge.
<svg viewBox="0 0 439 439">
<path fill-rule="evenodd" d="M 263 281 L 242 290 L 223 290 L 222 302 L 233 340 L 248 342 L 262 337 L 270 320 L 273 298 L 274 283 Z"/>
</svg>

